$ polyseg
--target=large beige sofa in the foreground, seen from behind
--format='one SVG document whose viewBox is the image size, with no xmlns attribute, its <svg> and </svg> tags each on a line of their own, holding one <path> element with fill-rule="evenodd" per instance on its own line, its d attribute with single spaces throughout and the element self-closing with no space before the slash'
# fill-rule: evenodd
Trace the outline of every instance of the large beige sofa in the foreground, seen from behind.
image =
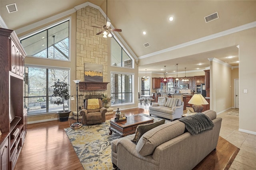
<svg viewBox="0 0 256 170">
<path fill-rule="evenodd" d="M 214 127 L 191 135 L 179 120 L 159 125 L 142 135 L 137 145 L 133 135 L 112 141 L 112 163 L 121 170 L 191 170 L 216 149 L 222 118 L 207 110 Z"/>
</svg>

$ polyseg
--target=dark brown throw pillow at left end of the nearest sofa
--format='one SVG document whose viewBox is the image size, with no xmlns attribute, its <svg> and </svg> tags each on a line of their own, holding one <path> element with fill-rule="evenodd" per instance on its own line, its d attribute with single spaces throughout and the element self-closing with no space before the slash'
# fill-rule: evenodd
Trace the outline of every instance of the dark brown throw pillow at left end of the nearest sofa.
<svg viewBox="0 0 256 170">
<path fill-rule="evenodd" d="M 134 139 L 132 139 L 131 141 L 136 142 L 137 144 L 144 133 L 146 133 L 150 129 L 153 129 L 159 125 L 164 124 L 164 122 L 165 122 L 165 119 L 162 119 L 154 123 L 146 123 L 146 124 L 138 125 L 135 131 Z"/>
</svg>

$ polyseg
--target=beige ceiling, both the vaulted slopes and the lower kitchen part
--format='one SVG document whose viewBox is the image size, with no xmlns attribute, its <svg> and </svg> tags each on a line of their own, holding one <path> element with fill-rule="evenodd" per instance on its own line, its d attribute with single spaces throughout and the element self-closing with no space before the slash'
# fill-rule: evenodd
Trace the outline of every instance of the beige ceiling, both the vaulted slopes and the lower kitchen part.
<svg viewBox="0 0 256 170">
<path fill-rule="evenodd" d="M 88 2 L 87 0 L 0 0 L 0 16 L 9 29 L 26 25 L 60 14 Z M 89 0 L 106 13 L 106 0 Z M 8 14 L 6 5 L 16 3 L 17 12 Z M 222 31 L 256 21 L 255 0 L 108 0 L 108 18 L 112 26 L 122 29 L 119 33 L 134 53 L 136 60 L 145 59 L 184 43 L 193 42 Z M 206 23 L 204 17 L 218 12 L 218 19 Z M 174 17 L 169 21 L 170 16 Z M 142 32 L 146 31 L 146 35 Z M 101 35 L 99 35 L 101 36 Z M 149 43 L 149 47 L 144 47 Z M 233 58 L 227 58 L 233 56 Z M 187 71 L 209 66 L 208 58 L 217 58 L 231 66 L 238 66 L 238 48 L 227 47 L 196 55 L 158 62 L 157 59 L 140 65 L 139 71 L 160 72 L 167 61 L 167 70 L 175 64 Z M 202 65 L 198 66 L 198 63 Z"/>
</svg>

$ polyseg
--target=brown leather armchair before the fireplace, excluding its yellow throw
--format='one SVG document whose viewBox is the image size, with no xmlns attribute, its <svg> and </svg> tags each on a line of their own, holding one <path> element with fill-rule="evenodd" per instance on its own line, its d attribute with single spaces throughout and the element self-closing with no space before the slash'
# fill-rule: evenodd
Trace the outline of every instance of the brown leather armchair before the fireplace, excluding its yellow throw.
<svg viewBox="0 0 256 170">
<path fill-rule="evenodd" d="M 107 109 L 103 107 L 101 99 L 99 99 L 99 109 L 87 109 L 87 104 L 88 99 L 84 102 L 84 109 L 80 111 L 83 125 L 100 124 L 106 121 L 105 113 L 107 112 Z"/>
</svg>

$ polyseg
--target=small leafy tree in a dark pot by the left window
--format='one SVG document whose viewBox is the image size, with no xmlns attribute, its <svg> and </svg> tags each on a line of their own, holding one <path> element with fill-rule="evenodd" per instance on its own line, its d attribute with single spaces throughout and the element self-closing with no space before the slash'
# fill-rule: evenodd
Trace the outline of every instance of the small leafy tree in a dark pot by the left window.
<svg viewBox="0 0 256 170">
<path fill-rule="evenodd" d="M 71 110 L 65 110 L 64 101 L 70 98 L 68 93 L 68 86 L 69 84 L 65 82 L 61 82 L 60 80 L 54 82 L 53 87 L 53 94 L 52 96 L 59 97 L 57 101 L 54 102 L 56 105 L 62 104 L 62 111 L 58 111 L 58 115 L 60 117 L 60 121 L 68 121 L 69 114 Z"/>
</svg>

